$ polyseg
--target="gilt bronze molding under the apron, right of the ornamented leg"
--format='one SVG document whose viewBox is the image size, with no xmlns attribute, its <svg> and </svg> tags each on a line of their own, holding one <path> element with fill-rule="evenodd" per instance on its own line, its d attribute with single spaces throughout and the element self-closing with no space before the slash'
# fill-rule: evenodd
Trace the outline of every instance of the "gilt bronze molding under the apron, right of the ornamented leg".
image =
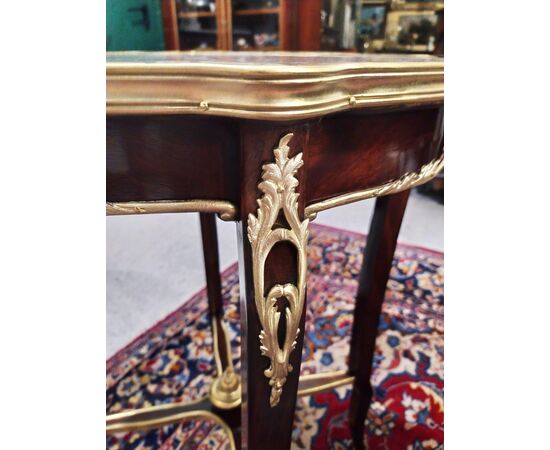
<svg viewBox="0 0 550 450">
<path fill-rule="evenodd" d="M 317 213 L 326 209 L 336 208 L 337 206 L 343 206 L 360 200 L 367 200 L 369 198 L 396 194 L 406 189 L 412 189 L 434 178 L 443 168 L 443 164 L 444 153 L 441 153 L 438 158 L 422 166 L 418 172 L 408 172 L 397 180 L 389 181 L 388 183 L 380 186 L 374 186 L 361 191 L 350 192 L 348 194 L 337 195 L 336 197 L 312 203 L 304 208 L 304 215 L 306 218 L 313 220 L 317 217 Z"/>
</svg>

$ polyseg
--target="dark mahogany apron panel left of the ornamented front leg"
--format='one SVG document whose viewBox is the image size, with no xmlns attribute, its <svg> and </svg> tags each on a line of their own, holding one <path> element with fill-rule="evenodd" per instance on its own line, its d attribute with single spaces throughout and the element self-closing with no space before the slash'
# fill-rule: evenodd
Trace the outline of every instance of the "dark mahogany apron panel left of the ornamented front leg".
<svg viewBox="0 0 550 450">
<path fill-rule="evenodd" d="M 237 202 L 239 132 L 231 120 L 107 118 L 107 201 Z"/>
</svg>

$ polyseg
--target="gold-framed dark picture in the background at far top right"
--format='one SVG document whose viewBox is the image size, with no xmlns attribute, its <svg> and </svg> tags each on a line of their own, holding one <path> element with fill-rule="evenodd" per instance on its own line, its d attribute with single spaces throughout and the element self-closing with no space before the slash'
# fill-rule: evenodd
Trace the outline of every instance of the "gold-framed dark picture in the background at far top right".
<svg viewBox="0 0 550 450">
<path fill-rule="evenodd" d="M 437 36 L 435 11 L 392 11 L 386 21 L 384 48 L 432 52 Z"/>
</svg>

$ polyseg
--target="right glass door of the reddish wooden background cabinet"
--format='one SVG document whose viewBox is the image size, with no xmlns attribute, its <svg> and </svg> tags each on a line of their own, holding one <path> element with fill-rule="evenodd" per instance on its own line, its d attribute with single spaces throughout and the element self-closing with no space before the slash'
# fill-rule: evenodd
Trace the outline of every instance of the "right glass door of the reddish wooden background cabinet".
<svg viewBox="0 0 550 450">
<path fill-rule="evenodd" d="M 232 0 L 233 50 L 279 49 L 280 3 L 280 0 Z"/>
</svg>

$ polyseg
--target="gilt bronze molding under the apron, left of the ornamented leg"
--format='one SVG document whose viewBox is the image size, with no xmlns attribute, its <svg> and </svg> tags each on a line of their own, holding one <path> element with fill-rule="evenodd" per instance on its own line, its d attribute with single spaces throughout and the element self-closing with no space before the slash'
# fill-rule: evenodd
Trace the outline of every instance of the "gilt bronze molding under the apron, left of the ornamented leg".
<svg viewBox="0 0 550 450">
<path fill-rule="evenodd" d="M 107 202 L 108 216 L 163 213 L 215 213 L 220 219 L 235 220 L 237 208 L 225 200 L 159 200 L 147 202 Z"/>
</svg>

